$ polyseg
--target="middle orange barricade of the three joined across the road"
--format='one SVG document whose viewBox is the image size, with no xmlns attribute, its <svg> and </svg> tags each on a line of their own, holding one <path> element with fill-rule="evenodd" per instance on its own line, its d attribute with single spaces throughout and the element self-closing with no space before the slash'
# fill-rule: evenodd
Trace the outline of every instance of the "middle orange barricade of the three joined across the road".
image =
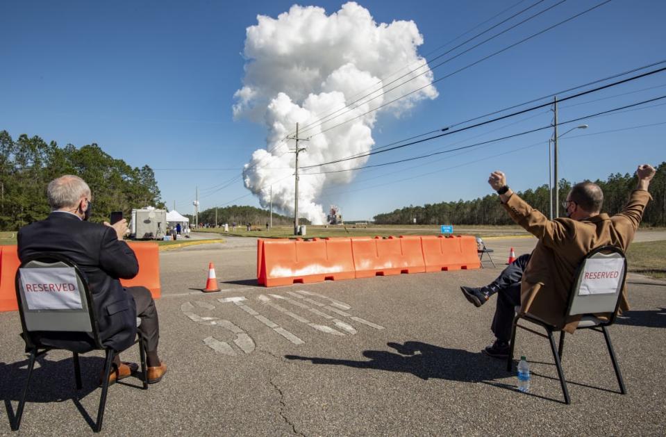
<svg viewBox="0 0 666 437">
<path fill-rule="evenodd" d="M 421 238 L 351 238 L 357 278 L 426 271 Z"/>
</svg>

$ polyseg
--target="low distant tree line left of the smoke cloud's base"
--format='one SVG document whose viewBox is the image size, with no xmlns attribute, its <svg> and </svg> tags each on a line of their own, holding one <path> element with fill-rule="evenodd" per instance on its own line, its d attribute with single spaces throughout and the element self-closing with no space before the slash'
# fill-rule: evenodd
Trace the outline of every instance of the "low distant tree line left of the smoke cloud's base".
<svg viewBox="0 0 666 437">
<path fill-rule="evenodd" d="M 217 214 L 216 214 L 217 212 Z M 245 224 L 252 224 L 253 226 L 265 226 L 270 221 L 270 211 L 265 209 L 255 208 L 254 206 L 224 206 L 220 208 L 208 208 L 199 213 L 199 224 L 207 224 L 208 226 L 215 226 L 215 217 L 217 215 L 217 226 L 222 226 L 225 223 L 235 223 L 238 226 Z M 192 215 L 185 215 L 190 219 L 190 224 L 194 224 L 194 217 Z M 283 226 L 294 223 L 294 217 L 287 217 L 273 213 L 273 226 Z M 308 220 L 301 218 L 301 224 L 310 224 Z"/>
</svg>

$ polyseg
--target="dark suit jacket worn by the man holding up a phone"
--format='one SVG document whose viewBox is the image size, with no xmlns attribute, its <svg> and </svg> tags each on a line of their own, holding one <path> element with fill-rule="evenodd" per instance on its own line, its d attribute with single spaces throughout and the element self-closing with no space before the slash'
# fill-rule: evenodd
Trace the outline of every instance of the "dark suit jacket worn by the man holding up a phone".
<svg viewBox="0 0 666 437">
<path fill-rule="evenodd" d="M 102 344 L 118 352 L 133 344 L 136 306 L 119 278 L 135 277 L 139 264 L 126 242 L 118 240 L 115 229 L 83 222 L 69 213 L 53 212 L 46 220 L 28 224 L 19 231 L 18 251 L 21 261 L 42 252 L 56 252 L 74 261 L 88 279 Z M 44 332 L 41 343 L 69 349 L 68 342 L 82 341 L 81 336 L 73 334 L 63 337 Z M 80 346 L 78 349 L 85 349 Z"/>
</svg>

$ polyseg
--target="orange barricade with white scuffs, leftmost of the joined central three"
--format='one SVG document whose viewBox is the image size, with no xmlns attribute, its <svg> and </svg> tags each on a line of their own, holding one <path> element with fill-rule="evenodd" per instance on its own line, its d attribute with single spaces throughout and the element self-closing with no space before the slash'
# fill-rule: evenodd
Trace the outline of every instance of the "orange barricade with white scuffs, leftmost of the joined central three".
<svg viewBox="0 0 666 437">
<path fill-rule="evenodd" d="M 267 287 L 353 279 L 349 238 L 258 240 L 257 281 Z"/>
</svg>

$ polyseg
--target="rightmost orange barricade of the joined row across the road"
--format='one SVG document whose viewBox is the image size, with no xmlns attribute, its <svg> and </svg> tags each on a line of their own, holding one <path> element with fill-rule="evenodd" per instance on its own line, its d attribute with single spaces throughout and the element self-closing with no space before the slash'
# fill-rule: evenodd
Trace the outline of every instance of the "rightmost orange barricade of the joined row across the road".
<svg viewBox="0 0 666 437">
<path fill-rule="evenodd" d="M 426 272 L 481 267 L 473 236 L 422 236 L 421 244 Z"/>
</svg>

